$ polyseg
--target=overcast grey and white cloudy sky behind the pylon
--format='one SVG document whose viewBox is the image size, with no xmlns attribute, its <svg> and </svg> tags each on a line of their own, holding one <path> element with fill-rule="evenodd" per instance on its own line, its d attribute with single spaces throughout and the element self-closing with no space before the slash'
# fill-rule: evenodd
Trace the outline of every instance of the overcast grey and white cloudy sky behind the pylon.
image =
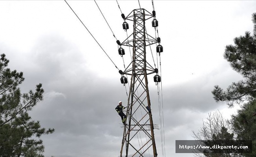
<svg viewBox="0 0 256 157">
<path fill-rule="evenodd" d="M 117 67 L 124 69 L 116 39 L 95 2 L 67 2 Z M 137 0 L 118 2 L 124 15 L 139 8 Z M 97 4 L 117 39 L 125 40 L 116 1 L 99 0 Z M 151 1 L 141 0 L 140 5 L 153 10 Z M 197 131 L 210 112 L 220 110 L 229 118 L 236 111 L 225 103 L 217 104 L 211 91 L 216 84 L 227 88 L 242 79 L 223 59 L 223 53 L 234 37 L 252 32 L 256 1 L 155 0 L 154 7 L 164 47 L 161 67 L 166 157 L 192 157 L 176 154 L 175 140 L 193 140 L 192 130 Z M 146 22 L 148 33 L 154 37 L 151 20 Z M 127 101 L 121 76 L 64 0 L 1 0 L 0 53 L 10 60 L 9 68 L 24 72 L 22 92 L 43 84 L 44 101 L 30 115 L 40 120 L 42 127 L 56 130 L 42 137 L 46 157 L 120 155 L 123 129 L 115 107 L 119 101 Z M 158 106 L 154 106 L 157 87 L 153 75 L 148 78 L 153 120 L 160 124 Z M 160 131 L 155 130 L 159 157 L 163 156 L 160 137 Z"/>
</svg>

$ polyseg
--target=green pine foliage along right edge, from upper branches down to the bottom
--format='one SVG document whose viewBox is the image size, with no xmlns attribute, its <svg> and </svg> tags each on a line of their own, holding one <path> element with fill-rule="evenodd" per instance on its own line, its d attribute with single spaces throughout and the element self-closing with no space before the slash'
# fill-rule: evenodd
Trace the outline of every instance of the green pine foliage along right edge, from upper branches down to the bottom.
<svg viewBox="0 0 256 157">
<path fill-rule="evenodd" d="M 256 156 L 256 13 L 252 14 L 252 22 L 253 35 L 247 31 L 244 36 L 234 38 L 234 45 L 227 45 L 224 53 L 224 58 L 243 80 L 232 82 L 226 91 L 218 85 L 212 91 L 216 102 L 226 101 L 229 107 L 240 104 L 241 109 L 228 123 L 236 140 L 252 140 L 253 152 L 242 153 L 244 157 Z"/>
</svg>

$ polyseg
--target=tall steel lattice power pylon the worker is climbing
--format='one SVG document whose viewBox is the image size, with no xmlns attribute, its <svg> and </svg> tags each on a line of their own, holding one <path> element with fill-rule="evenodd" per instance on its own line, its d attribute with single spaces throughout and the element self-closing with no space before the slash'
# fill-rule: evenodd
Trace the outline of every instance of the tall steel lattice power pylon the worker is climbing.
<svg viewBox="0 0 256 157">
<path fill-rule="evenodd" d="M 157 157 L 147 75 L 158 70 L 146 61 L 146 46 L 157 40 L 146 33 L 145 21 L 149 18 L 155 16 L 145 9 L 135 9 L 125 18 L 133 21 L 133 33 L 121 45 L 133 47 L 133 55 L 132 62 L 121 71 L 122 75 L 131 75 L 131 83 L 120 157 L 123 153 L 125 157 Z"/>
</svg>

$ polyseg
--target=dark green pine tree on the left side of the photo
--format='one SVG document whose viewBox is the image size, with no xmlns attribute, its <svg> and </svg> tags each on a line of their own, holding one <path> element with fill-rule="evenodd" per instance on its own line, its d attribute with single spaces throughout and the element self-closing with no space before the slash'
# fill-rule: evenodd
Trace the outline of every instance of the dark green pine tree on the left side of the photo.
<svg viewBox="0 0 256 157">
<path fill-rule="evenodd" d="M 23 73 L 7 68 L 9 60 L 0 55 L 0 156 L 43 157 L 41 135 L 54 129 L 41 128 L 39 121 L 31 120 L 28 111 L 43 100 L 42 84 L 36 91 L 20 93 L 18 86 L 24 81 Z"/>
</svg>

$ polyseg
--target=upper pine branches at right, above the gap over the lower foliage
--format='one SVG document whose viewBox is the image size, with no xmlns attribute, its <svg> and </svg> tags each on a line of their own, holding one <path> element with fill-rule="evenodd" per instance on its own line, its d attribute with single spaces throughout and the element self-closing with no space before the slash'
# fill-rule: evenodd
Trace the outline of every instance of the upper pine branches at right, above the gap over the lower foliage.
<svg viewBox="0 0 256 157">
<path fill-rule="evenodd" d="M 253 35 L 247 31 L 244 36 L 234 38 L 235 45 L 227 45 L 224 53 L 230 66 L 244 79 L 233 82 L 226 91 L 218 85 L 212 91 L 216 102 L 226 101 L 230 107 L 256 98 L 256 13 L 252 14 L 252 22 Z"/>
</svg>

